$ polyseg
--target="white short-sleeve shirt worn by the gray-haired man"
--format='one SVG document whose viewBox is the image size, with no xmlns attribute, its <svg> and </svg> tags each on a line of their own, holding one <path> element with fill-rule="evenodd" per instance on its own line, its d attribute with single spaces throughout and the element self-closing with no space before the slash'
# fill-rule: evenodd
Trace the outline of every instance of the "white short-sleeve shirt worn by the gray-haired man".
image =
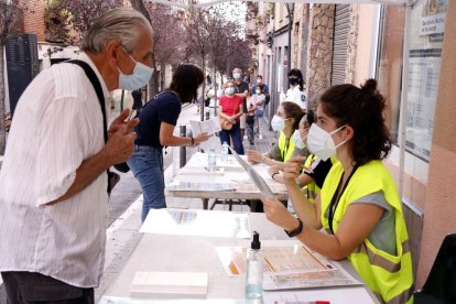
<svg viewBox="0 0 456 304">
<path fill-rule="evenodd" d="M 110 98 L 100 80 L 106 109 Z M 107 113 L 109 115 L 109 112 Z M 29 271 L 80 287 L 97 286 L 106 247 L 107 174 L 73 197 L 84 160 L 105 145 L 100 105 L 84 70 L 57 64 L 41 72 L 15 108 L 0 171 L 0 271 Z"/>
</svg>

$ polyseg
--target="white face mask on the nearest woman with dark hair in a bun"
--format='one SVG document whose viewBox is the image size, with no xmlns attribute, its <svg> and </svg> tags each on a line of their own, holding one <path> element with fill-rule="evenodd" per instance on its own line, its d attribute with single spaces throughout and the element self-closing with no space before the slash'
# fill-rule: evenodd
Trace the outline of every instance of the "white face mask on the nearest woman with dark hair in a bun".
<svg viewBox="0 0 456 304">
<path fill-rule="evenodd" d="M 341 130 L 345 126 L 337 128 L 332 132 L 326 132 L 316 123 L 313 123 L 307 134 L 308 151 L 317 155 L 317 158 L 323 161 L 336 155 L 337 148 L 346 143 L 346 141 L 343 141 L 336 145 L 333 140 L 333 134 Z"/>
</svg>

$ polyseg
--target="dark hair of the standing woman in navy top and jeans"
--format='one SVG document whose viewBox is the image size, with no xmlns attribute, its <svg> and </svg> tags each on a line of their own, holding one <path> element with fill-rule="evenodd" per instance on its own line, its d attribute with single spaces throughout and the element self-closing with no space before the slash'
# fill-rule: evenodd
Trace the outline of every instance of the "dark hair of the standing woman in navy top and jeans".
<svg viewBox="0 0 456 304">
<path fill-rule="evenodd" d="M 181 64 L 174 70 L 167 88 L 177 93 L 181 102 L 192 102 L 198 97 L 198 87 L 204 82 L 203 70 L 193 64 Z"/>
</svg>

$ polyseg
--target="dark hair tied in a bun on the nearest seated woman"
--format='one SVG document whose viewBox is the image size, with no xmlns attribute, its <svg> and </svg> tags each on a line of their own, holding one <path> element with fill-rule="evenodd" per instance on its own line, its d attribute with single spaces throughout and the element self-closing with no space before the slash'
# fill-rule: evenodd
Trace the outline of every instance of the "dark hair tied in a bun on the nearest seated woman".
<svg viewBox="0 0 456 304">
<path fill-rule="evenodd" d="M 349 144 L 358 165 L 389 154 L 391 138 L 383 118 L 386 101 L 374 79 L 366 80 L 360 88 L 354 85 L 330 87 L 322 95 L 319 104 L 338 128 L 348 124 L 355 130 Z"/>
</svg>

